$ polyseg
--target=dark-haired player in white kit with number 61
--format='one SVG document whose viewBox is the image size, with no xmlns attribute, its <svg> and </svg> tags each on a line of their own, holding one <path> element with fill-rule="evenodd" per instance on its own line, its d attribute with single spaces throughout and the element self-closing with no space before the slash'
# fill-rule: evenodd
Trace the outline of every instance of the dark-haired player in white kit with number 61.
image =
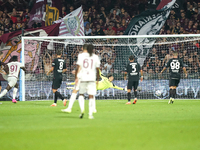
<svg viewBox="0 0 200 150">
<path fill-rule="evenodd" d="M 83 118 L 84 115 L 84 93 L 89 95 L 89 119 L 93 119 L 93 105 L 95 104 L 94 96 L 96 95 L 96 84 L 99 81 L 99 67 L 100 60 L 97 55 L 93 53 L 94 46 L 89 44 L 87 46 L 87 52 L 78 55 L 77 60 L 77 70 L 75 73 L 75 83 L 79 86 L 79 105 L 81 109 L 80 118 Z M 77 74 L 80 73 L 80 77 Z M 96 82 L 97 79 L 97 82 Z"/>
</svg>

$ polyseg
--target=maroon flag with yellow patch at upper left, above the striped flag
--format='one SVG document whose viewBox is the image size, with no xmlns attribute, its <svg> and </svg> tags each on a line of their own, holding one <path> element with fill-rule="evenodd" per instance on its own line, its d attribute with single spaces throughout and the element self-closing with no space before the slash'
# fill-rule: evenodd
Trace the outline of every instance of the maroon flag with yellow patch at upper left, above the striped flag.
<svg viewBox="0 0 200 150">
<path fill-rule="evenodd" d="M 49 7 L 50 10 L 49 10 Z M 46 9 L 46 7 L 48 7 Z M 28 22 L 28 27 L 32 28 L 32 25 L 34 23 L 42 23 L 42 25 L 44 26 L 46 22 L 51 22 L 49 20 L 51 20 L 51 17 L 49 18 L 48 16 L 57 16 L 57 14 L 53 11 L 55 11 L 55 9 L 51 9 L 52 7 L 55 7 L 57 9 L 56 12 L 59 11 L 58 16 L 62 14 L 62 7 L 61 7 L 61 0 L 36 0 L 33 8 L 30 11 L 30 20 Z M 45 19 L 46 17 L 46 11 L 47 11 L 47 19 Z M 55 18 L 55 20 L 57 20 L 57 17 Z M 53 20 L 54 21 L 54 20 Z M 48 24 L 51 25 L 51 24 Z"/>
</svg>

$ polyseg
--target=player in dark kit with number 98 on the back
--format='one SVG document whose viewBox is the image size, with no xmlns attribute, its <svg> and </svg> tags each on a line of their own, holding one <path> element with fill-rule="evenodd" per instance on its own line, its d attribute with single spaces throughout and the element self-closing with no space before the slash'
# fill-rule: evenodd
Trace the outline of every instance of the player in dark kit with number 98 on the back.
<svg viewBox="0 0 200 150">
<path fill-rule="evenodd" d="M 174 98 L 176 95 L 176 87 L 178 86 L 180 82 L 180 78 L 181 78 L 181 69 L 183 68 L 185 77 L 187 77 L 187 71 L 186 71 L 186 68 L 183 66 L 183 62 L 178 58 L 178 53 L 176 51 L 173 52 L 173 58 L 167 62 L 166 66 L 161 71 L 161 74 L 168 67 L 169 67 L 169 72 L 170 72 L 170 79 L 169 79 L 170 99 L 169 99 L 168 104 L 173 104 Z"/>
</svg>

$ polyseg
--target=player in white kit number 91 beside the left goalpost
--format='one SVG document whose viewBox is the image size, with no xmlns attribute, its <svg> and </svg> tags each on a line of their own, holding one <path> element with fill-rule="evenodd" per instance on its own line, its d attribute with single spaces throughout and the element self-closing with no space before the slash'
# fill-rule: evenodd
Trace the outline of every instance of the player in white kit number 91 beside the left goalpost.
<svg viewBox="0 0 200 150">
<path fill-rule="evenodd" d="M 18 79 L 20 69 L 26 71 L 24 65 L 22 63 L 18 62 L 17 60 L 18 60 L 18 57 L 13 56 L 11 58 L 11 61 L 7 65 L 5 65 L 4 71 L 8 75 L 8 78 L 7 78 L 8 85 L 7 85 L 6 89 L 4 89 L 0 94 L 0 98 L 1 98 L 10 89 L 12 89 L 14 87 L 14 89 L 13 89 L 13 99 L 12 99 L 13 103 L 17 103 L 15 97 L 16 97 L 17 90 L 18 90 L 17 79 Z"/>
</svg>

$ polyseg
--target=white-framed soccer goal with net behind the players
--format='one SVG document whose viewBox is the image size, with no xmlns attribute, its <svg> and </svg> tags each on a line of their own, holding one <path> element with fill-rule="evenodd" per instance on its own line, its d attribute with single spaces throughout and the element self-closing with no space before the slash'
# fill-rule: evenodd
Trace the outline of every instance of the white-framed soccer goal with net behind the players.
<svg viewBox="0 0 200 150">
<path fill-rule="evenodd" d="M 144 72 L 144 80 L 139 81 L 138 99 L 169 98 L 169 70 L 162 75 L 167 61 L 172 57 L 172 50 L 178 51 L 188 77 L 182 73 L 177 88 L 177 98 L 200 98 L 200 38 L 198 35 L 152 35 L 152 36 L 86 36 L 86 37 L 22 37 L 21 61 L 28 72 L 22 73 L 20 82 L 21 100 L 53 99 L 52 78 L 46 73 L 56 57 L 56 51 L 62 49 L 62 57 L 66 61 L 68 71 L 63 74 L 63 83 L 59 89 L 64 97 L 69 98 L 74 82 L 72 71 L 76 68 L 77 56 L 84 43 L 92 43 L 95 53 L 101 60 L 101 72 L 113 74 L 113 84 L 125 88 L 124 69 L 128 57 L 134 55 Z M 66 87 L 69 87 L 68 89 Z M 21 94 L 22 93 L 22 94 Z M 132 99 L 134 94 L 132 94 Z M 123 90 L 109 88 L 98 91 L 96 99 L 127 99 Z"/>
</svg>

